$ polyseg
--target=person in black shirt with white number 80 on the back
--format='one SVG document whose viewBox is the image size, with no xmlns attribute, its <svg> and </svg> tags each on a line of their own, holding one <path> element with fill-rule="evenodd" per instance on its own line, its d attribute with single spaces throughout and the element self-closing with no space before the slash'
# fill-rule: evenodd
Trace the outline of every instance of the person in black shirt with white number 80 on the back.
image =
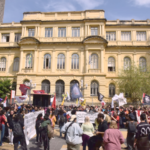
<svg viewBox="0 0 150 150">
<path fill-rule="evenodd" d="M 146 123 L 146 114 L 142 113 L 140 115 L 141 122 L 136 127 L 136 136 L 134 140 L 134 147 L 137 146 L 138 150 L 149 150 L 149 134 L 150 134 L 150 124 Z"/>
</svg>

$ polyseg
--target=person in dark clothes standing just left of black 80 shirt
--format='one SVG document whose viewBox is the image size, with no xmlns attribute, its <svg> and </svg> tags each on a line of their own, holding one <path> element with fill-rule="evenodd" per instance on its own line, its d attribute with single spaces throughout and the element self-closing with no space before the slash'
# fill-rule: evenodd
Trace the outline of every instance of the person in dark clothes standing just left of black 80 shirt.
<svg viewBox="0 0 150 150">
<path fill-rule="evenodd" d="M 135 133 L 136 133 L 136 126 L 137 122 L 134 121 L 135 117 L 133 113 L 129 114 L 129 121 L 126 123 L 127 127 L 127 149 L 128 150 L 134 150 L 134 139 L 135 139 Z"/>
</svg>

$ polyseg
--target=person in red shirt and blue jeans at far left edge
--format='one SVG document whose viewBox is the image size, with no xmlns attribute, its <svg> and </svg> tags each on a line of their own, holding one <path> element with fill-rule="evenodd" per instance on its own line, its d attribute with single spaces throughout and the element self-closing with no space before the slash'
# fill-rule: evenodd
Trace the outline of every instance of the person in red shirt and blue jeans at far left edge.
<svg viewBox="0 0 150 150">
<path fill-rule="evenodd" d="M 5 134 L 5 122 L 7 122 L 3 110 L 0 111 L 0 146 L 2 146 L 3 137 Z"/>
</svg>

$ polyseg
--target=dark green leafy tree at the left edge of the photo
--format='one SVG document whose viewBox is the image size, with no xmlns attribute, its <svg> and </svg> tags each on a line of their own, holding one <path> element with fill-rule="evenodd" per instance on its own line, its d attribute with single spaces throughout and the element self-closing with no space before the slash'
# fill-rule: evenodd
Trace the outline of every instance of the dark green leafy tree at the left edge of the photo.
<svg viewBox="0 0 150 150">
<path fill-rule="evenodd" d="M 7 78 L 0 79 L 0 98 L 5 99 L 6 95 L 9 97 L 11 92 L 11 80 Z"/>
</svg>

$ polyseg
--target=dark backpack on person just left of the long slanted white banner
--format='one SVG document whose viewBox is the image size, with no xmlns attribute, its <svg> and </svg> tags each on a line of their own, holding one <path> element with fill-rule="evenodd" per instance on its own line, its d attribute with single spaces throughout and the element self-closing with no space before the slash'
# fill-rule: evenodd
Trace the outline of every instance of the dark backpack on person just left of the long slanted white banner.
<svg viewBox="0 0 150 150">
<path fill-rule="evenodd" d="M 13 122 L 14 137 L 20 137 L 23 135 L 23 129 L 19 122 Z"/>
</svg>

